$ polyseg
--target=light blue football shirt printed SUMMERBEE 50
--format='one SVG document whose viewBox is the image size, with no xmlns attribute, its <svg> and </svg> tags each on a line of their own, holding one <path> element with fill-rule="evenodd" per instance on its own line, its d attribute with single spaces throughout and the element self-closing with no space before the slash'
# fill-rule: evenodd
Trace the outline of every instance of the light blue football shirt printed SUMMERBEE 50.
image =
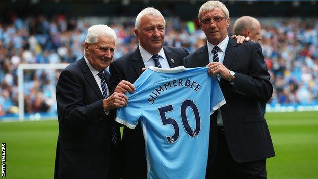
<svg viewBox="0 0 318 179">
<path fill-rule="evenodd" d="M 207 67 L 148 67 L 116 121 L 145 138 L 148 178 L 205 178 L 210 114 L 225 104 Z"/>
</svg>

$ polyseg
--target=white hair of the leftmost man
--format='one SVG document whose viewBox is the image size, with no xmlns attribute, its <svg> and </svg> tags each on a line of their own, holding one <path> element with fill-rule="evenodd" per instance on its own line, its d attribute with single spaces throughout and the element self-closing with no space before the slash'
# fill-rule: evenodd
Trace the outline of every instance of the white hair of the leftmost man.
<svg viewBox="0 0 318 179">
<path fill-rule="evenodd" d="M 115 31 L 107 25 L 92 25 L 87 30 L 85 42 L 89 44 L 95 44 L 98 42 L 98 36 L 112 38 L 116 42 Z"/>
</svg>

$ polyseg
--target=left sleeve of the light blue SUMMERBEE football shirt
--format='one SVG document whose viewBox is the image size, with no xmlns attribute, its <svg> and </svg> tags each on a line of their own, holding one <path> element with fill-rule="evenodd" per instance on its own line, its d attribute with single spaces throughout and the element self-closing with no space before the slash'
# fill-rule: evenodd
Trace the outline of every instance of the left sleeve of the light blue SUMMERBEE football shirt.
<svg viewBox="0 0 318 179">
<path fill-rule="evenodd" d="M 142 115 L 142 101 L 138 92 L 128 97 L 128 105 L 123 108 L 117 108 L 116 121 L 126 125 L 130 129 L 135 129 L 138 119 Z"/>
</svg>

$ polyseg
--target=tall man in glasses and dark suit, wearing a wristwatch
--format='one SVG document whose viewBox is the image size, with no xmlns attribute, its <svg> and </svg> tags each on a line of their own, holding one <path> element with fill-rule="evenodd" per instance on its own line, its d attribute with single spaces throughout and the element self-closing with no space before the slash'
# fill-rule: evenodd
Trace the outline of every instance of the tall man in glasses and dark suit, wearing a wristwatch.
<svg viewBox="0 0 318 179">
<path fill-rule="evenodd" d="M 269 129 L 258 107 L 273 87 L 261 47 L 228 37 L 229 12 L 219 1 L 199 10 L 207 44 L 186 58 L 186 67 L 208 66 L 226 100 L 211 116 L 207 178 L 266 178 L 266 158 L 275 156 Z"/>
</svg>

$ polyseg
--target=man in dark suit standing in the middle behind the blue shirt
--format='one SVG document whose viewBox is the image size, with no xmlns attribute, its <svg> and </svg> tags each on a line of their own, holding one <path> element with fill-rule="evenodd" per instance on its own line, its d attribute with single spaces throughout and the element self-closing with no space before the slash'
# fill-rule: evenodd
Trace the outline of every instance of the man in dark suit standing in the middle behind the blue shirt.
<svg viewBox="0 0 318 179">
<path fill-rule="evenodd" d="M 138 14 L 134 33 L 139 46 L 134 52 L 111 63 L 111 88 L 121 80 L 134 83 L 144 67 L 173 68 L 182 65 L 183 57 L 189 53 L 183 48 L 163 47 L 165 25 L 165 19 L 157 9 L 145 8 Z M 122 177 L 147 178 L 145 142 L 140 122 L 134 130 L 124 127 L 122 146 Z"/>
</svg>

